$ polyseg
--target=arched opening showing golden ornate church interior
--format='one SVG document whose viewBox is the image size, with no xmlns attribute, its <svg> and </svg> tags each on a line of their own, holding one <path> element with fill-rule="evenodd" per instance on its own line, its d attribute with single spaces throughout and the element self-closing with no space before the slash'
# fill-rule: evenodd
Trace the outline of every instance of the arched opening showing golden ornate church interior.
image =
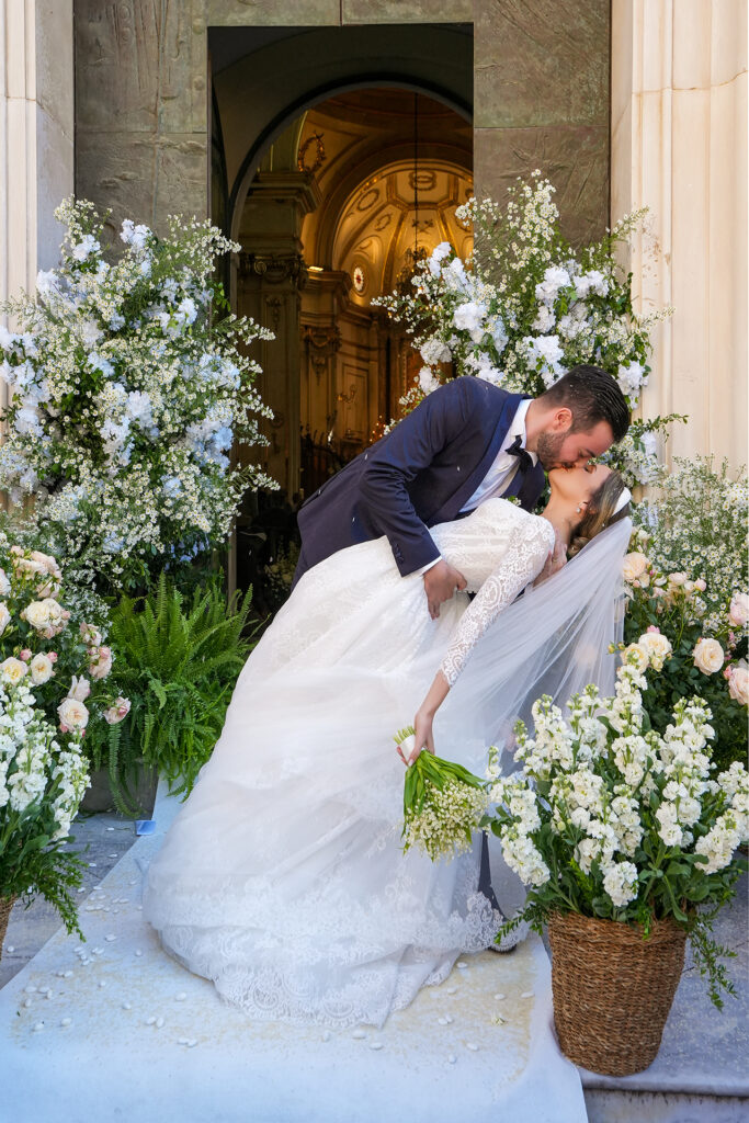
<svg viewBox="0 0 749 1123">
<path fill-rule="evenodd" d="M 237 226 L 235 292 L 237 311 L 276 334 L 262 357 L 267 467 L 290 495 L 398 413 L 411 349 L 372 299 L 438 243 L 469 248 L 455 209 L 472 184 L 469 122 L 402 88 L 326 99 L 266 153 Z"/>
</svg>

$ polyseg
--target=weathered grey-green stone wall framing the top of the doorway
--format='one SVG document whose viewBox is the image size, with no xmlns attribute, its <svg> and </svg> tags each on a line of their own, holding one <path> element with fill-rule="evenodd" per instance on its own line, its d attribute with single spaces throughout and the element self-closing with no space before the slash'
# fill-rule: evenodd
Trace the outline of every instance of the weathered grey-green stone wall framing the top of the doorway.
<svg viewBox="0 0 749 1123">
<path fill-rule="evenodd" d="M 501 192 L 538 166 L 559 184 L 570 237 L 601 232 L 609 217 L 609 0 L 75 0 L 76 191 L 112 207 L 116 219 L 129 213 L 156 228 L 177 204 L 209 212 L 208 27 L 459 21 L 475 26 L 479 190 Z M 286 56 L 291 84 L 303 65 Z M 256 101 L 244 111 L 255 120 Z M 256 125 L 252 131 L 258 135 Z M 231 153 L 227 162 L 231 179 Z"/>
</svg>

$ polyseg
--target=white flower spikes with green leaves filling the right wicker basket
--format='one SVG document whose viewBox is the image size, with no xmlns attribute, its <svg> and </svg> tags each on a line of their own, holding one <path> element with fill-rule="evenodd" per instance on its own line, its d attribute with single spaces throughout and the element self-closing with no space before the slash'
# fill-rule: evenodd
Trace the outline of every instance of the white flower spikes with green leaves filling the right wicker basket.
<svg viewBox="0 0 749 1123">
<path fill-rule="evenodd" d="M 681 699 L 663 732 L 650 727 L 646 676 L 668 654 L 664 637 L 652 640 L 629 649 L 614 697 L 591 685 L 569 700 L 568 718 L 548 696 L 533 704 L 533 736 L 515 727 L 522 769 L 491 787 L 492 830 L 529 887 L 511 923 L 540 931 L 550 913 L 575 912 L 647 934 L 654 919 L 672 917 L 720 1006 L 720 988 L 733 987 L 711 922 L 746 868 L 734 851 L 749 838 L 749 776 L 739 763 L 713 775 L 701 699 Z"/>
</svg>

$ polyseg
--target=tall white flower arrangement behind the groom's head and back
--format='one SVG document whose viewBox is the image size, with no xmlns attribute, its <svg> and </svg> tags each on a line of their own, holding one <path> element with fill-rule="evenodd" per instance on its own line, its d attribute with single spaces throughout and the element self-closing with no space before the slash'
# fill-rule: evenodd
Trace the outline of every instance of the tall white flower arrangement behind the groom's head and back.
<svg viewBox="0 0 749 1123">
<path fill-rule="evenodd" d="M 508 390 L 536 396 L 577 364 L 595 364 L 619 383 L 632 409 L 647 385 L 649 334 L 670 308 L 638 319 L 631 277 L 614 247 L 646 211 L 625 216 L 601 241 L 575 252 L 559 232 L 554 186 L 535 172 L 511 188 L 504 209 L 471 199 L 457 210 L 473 226 L 471 261 L 440 243 L 419 264 L 413 293 L 373 301 L 413 335 L 424 366 L 401 404 L 408 410 L 445 381 L 444 364 Z M 612 460 L 630 484 L 657 475 L 655 433 L 668 420 L 634 429 Z"/>
</svg>

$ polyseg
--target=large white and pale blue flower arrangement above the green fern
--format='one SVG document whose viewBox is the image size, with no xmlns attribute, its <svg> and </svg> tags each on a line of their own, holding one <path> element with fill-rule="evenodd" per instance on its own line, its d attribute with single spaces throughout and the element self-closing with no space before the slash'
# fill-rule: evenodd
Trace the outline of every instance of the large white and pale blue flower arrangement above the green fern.
<svg viewBox="0 0 749 1123">
<path fill-rule="evenodd" d="M 210 223 L 173 217 L 159 239 L 126 219 L 109 261 L 91 203 L 65 200 L 55 216 L 60 267 L 4 307 L 22 330 L 0 330 L 0 486 L 13 503 L 35 496 L 47 541 L 84 579 L 136 585 L 222 542 L 248 486 L 277 486 L 228 456 L 266 444 L 259 367 L 240 346 L 273 336 L 217 320 L 214 262 L 239 247 Z"/>
</svg>

